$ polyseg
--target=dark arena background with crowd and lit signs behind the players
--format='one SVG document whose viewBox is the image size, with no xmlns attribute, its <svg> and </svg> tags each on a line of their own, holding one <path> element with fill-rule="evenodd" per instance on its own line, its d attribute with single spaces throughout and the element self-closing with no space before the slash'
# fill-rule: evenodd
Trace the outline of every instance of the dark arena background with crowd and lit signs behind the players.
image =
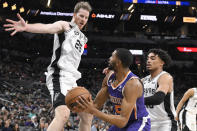
<svg viewBox="0 0 197 131">
<path fill-rule="evenodd" d="M 52 55 L 53 35 L 5 32 L 5 19 L 28 23 L 70 21 L 77 0 L 0 0 L 0 131 L 46 130 L 53 114 L 44 72 Z M 184 92 L 197 86 L 197 2 L 195 0 L 89 0 L 93 7 L 84 33 L 89 41 L 79 70 L 78 85 L 95 97 L 107 60 L 116 48 L 135 50 L 131 70 L 146 75 L 145 58 L 151 48 L 166 50 L 173 63 L 175 105 Z M 142 54 L 139 54 L 142 53 Z M 104 112 L 111 112 L 110 103 Z M 71 114 L 66 130 L 77 130 L 79 118 Z M 94 126 L 109 125 L 94 119 Z"/>
</svg>

